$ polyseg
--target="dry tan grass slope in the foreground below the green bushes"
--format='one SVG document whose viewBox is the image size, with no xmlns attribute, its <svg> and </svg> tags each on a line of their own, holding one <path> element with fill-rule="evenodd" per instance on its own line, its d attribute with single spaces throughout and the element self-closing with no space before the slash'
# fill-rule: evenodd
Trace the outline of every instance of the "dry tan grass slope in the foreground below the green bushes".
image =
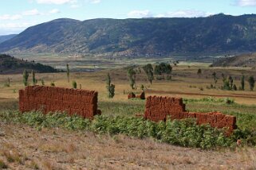
<svg viewBox="0 0 256 170">
<path fill-rule="evenodd" d="M 9 161 L 10 157 L 14 160 Z M 222 152 L 151 139 L 109 137 L 0 122 L 0 160 L 10 169 L 255 169 L 256 149 Z"/>
</svg>

